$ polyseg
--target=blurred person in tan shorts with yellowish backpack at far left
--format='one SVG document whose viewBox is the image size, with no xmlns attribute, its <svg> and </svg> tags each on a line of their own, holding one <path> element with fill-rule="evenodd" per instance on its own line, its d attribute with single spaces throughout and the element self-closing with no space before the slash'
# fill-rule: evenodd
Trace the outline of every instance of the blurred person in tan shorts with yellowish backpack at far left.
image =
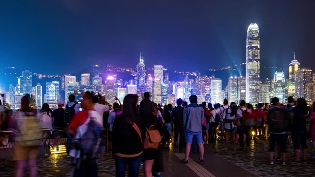
<svg viewBox="0 0 315 177">
<path fill-rule="evenodd" d="M 37 177 L 36 158 L 39 152 L 42 134 L 37 130 L 40 124 L 35 118 L 27 96 L 21 99 L 21 108 L 12 117 L 15 133 L 14 160 L 16 160 L 16 177 L 23 177 L 27 166 L 30 177 Z"/>
</svg>

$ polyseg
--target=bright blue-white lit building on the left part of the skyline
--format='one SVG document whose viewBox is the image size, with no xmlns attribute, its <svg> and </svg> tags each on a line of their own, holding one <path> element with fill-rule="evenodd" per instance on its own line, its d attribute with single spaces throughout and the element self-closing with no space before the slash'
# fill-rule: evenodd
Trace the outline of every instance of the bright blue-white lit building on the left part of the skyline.
<svg viewBox="0 0 315 177">
<path fill-rule="evenodd" d="M 69 86 L 69 85 L 68 85 Z M 46 83 L 46 98 L 45 103 L 48 103 L 51 107 L 57 107 L 59 100 L 59 82 L 53 81 Z"/>
</svg>

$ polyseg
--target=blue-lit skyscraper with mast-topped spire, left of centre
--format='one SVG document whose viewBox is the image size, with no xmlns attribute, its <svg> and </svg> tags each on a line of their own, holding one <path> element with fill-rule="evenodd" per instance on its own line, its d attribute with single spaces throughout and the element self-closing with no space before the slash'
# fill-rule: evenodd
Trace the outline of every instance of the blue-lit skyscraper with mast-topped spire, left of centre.
<svg viewBox="0 0 315 177">
<path fill-rule="evenodd" d="M 144 93 L 146 91 L 146 65 L 143 60 L 143 53 L 140 53 L 140 62 L 137 64 L 137 89 L 138 93 Z"/>
</svg>

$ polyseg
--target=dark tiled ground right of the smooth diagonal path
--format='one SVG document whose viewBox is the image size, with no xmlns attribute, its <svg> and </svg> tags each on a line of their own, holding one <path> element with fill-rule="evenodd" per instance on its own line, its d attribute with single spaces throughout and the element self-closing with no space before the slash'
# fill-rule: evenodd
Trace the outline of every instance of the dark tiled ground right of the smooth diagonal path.
<svg viewBox="0 0 315 177">
<path fill-rule="evenodd" d="M 268 160 L 268 141 L 252 141 L 250 149 L 241 150 L 223 150 L 223 142 L 217 142 L 216 145 L 205 145 L 206 151 L 216 154 L 222 159 L 226 159 L 233 164 L 250 171 L 259 177 L 314 177 L 315 159 L 308 157 L 308 164 L 292 164 L 282 166 L 280 161 L 275 161 L 271 166 L 265 163 Z M 232 146 L 230 145 L 230 149 Z M 239 148 L 239 146 L 237 146 Z M 309 151 L 314 152 L 314 148 L 309 145 Z M 294 160 L 293 146 L 288 146 L 287 160 Z"/>
</svg>

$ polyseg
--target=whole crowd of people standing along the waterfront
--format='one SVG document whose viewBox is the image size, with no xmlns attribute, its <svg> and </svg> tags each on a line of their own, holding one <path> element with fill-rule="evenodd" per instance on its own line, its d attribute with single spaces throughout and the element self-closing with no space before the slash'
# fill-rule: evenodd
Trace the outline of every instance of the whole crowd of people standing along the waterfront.
<svg viewBox="0 0 315 177">
<path fill-rule="evenodd" d="M 149 92 L 143 94 L 139 105 L 137 95 L 127 94 L 123 104 L 116 97 L 118 103 L 111 108 L 104 96 L 88 91 L 81 94 L 81 103 L 71 94 L 68 102 L 59 101 L 54 111 L 44 103 L 36 112 L 27 96 L 22 97 L 21 108 L 13 116 L 12 111 L 3 114 L 0 106 L 1 130 L 11 128 L 15 135 L 16 177 L 23 177 L 27 166 L 30 177 L 37 176 L 40 140 L 50 133 L 55 140 L 49 146 L 57 151 L 61 137 L 66 136 L 73 177 L 97 176 L 106 138 L 111 142 L 107 148 L 112 150 L 116 177 L 125 177 L 126 171 L 129 177 L 138 177 L 141 163 L 145 177 L 161 177 L 163 149 L 170 148 L 171 140 L 177 152 L 185 149 L 185 158 L 181 160 L 185 164 L 189 163 L 189 153 L 197 151 L 197 162 L 203 163 L 204 146 L 216 141 L 224 142 L 224 150 L 237 150 L 239 144 L 239 150 L 245 151 L 251 139 L 269 139 L 270 165 L 275 159 L 286 165 L 287 144 L 293 144 L 296 159 L 292 163 L 307 163 L 308 133 L 315 147 L 315 104 L 309 106 L 304 98 L 288 97 L 287 105 L 283 105 L 275 97 L 271 103 L 258 103 L 254 109 L 244 100 L 229 103 L 224 99 L 222 105 L 197 104 L 197 96 L 191 95 L 189 104 L 179 98 L 176 107 L 166 104 L 162 109 L 150 100 Z"/>
</svg>

